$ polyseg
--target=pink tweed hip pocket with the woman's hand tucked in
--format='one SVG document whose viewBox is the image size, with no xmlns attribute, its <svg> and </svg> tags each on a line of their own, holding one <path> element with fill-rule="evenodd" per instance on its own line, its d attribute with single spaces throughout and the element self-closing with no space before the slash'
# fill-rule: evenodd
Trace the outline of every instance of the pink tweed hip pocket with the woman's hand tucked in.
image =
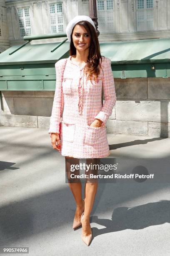
<svg viewBox="0 0 170 256">
<path fill-rule="evenodd" d="M 86 133 L 85 133 L 85 144 L 86 145 L 95 145 L 105 139 L 106 136 L 106 127 L 104 125 L 100 127 L 92 127 L 87 125 L 86 126 Z"/>
</svg>

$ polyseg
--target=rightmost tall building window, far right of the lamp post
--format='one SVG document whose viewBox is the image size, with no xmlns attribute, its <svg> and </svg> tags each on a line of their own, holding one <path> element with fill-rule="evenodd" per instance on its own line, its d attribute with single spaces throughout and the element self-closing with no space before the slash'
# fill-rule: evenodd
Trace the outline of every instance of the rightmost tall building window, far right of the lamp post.
<svg viewBox="0 0 170 256">
<path fill-rule="evenodd" d="M 137 31 L 153 30 L 153 0 L 137 0 Z"/>
</svg>

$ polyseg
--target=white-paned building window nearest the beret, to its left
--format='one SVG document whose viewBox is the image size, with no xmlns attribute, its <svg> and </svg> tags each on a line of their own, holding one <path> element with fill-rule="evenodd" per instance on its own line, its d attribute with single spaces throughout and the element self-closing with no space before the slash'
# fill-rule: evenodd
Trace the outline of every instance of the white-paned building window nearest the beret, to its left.
<svg viewBox="0 0 170 256">
<path fill-rule="evenodd" d="M 51 33 L 64 31 L 62 3 L 50 4 L 50 29 Z"/>
</svg>

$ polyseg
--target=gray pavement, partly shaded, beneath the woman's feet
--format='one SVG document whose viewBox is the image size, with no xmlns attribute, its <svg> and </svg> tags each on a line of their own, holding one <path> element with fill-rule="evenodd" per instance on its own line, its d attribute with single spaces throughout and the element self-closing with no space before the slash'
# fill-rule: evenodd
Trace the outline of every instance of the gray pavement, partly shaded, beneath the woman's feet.
<svg viewBox="0 0 170 256">
<path fill-rule="evenodd" d="M 120 174 L 140 165 L 164 178 L 99 183 L 87 247 L 81 228 L 72 230 L 65 158 L 47 131 L 0 127 L 0 247 L 29 247 L 31 256 L 169 256 L 170 138 L 107 134 Z"/>
</svg>

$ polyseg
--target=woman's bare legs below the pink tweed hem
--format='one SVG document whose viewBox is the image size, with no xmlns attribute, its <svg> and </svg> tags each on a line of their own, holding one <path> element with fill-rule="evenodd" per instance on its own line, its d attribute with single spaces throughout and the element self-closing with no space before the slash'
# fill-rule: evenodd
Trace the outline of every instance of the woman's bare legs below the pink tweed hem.
<svg viewBox="0 0 170 256">
<path fill-rule="evenodd" d="M 65 164 L 66 164 L 66 171 L 67 171 L 67 179 L 69 187 L 72 191 L 72 194 L 75 198 L 75 202 L 77 205 L 76 213 L 75 213 L 75 219 L 78 221 L 80 220 L 80 217 L 82 215 L 82 212 L 84 210 L 84 217 L 82 222 L 82 232 L 84 236 L 87 236 L 91 233 L 90 228 L 90 212 L 92 211 L 93 203 L 95 200 L 95 195 L 97 192 L 97 186 L 98 182 L 97 179 L 90 179 L 87 178 L 85 182 L 85 206 L 82 201 L 82 184 L 80 182 L 80 179 L 74 180 L 76 183 L 72 183 L 72 180 L 70 179 L 70 174 L 72 173 L 70 171 L 70 165 L 71 164 L 79 164 L 79 159 L 72 158 L 71 157 L 65 157 Z M 100 159 L 86 159 L 86 164 L 88 165 L 94 165 L 99 164 Z M 80 174 L 80 170 L 74 171 L 74 174 Z M 97 174 L 97 169 L 90 168 L 88 172 L 85 172 L 86 174 Z"/>
</svg>

